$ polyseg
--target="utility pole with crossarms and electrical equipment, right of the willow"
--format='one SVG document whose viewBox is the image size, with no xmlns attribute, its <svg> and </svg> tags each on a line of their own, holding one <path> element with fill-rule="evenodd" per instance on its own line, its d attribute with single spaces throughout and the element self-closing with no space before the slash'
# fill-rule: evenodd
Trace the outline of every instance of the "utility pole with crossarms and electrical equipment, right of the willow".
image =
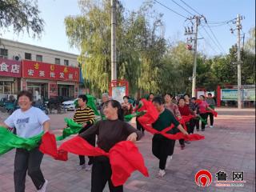
<svg viewBox="0 0 256 192">
<path fill-rule="evenodd" d="M 187 46 L 187 48 L 189 50 L 194 50 L 194 66 L 193 66 L 193 76 L 192 76 L 192 97 L 196 97 L 196 82 L 197 82 L 197 58 L 198 58 L 198 26 L 201 23 L 201 18 L 204 18 L 206 20 L 206 18 L 203 15 L 194 15 L 193 18 L 188 18 L 191 22 L 192 20 L 195 20 L 195 32 L 193 30 L 193 26 L 188 27 L 186 29 L 185 27 L 185 35 L 191 35 L 194 34 L 194 38 L 190 37 L 190 42 L 194 41 L 194 49 L 192 49 L 192 47 L 190 45 Z M 192 22 L 193 23 L 193 22 Z M 187 40 L 189 40 L 189 38 L 187 38 Z"/>
</svg>

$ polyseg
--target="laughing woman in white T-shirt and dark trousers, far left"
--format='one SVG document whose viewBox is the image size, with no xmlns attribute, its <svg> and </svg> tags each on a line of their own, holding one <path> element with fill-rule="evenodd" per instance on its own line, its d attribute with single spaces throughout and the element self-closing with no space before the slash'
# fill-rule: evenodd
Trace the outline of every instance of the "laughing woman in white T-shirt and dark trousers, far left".
<svg viewBox="0 0 256 192">
<path fill-rule="evenodd" d="M 18 94 L 20 109 L 0 123 L 0 126 L 16 129 L 20 138 L 31 138 L 45 133 L 50 129 L 50 118 L 42 110 L 32 106 L 33 95 L 30 91 L 22 90 Z M 40 165 L 43 154 L 37 148 L 33 150 L 17 149 L 14 160 L 14 187 L 15 192 L 25 191 L 26 171 L 34 182 L 38 191 L 46 191 L 47 180 L 43 177 Z"/>
</svg>

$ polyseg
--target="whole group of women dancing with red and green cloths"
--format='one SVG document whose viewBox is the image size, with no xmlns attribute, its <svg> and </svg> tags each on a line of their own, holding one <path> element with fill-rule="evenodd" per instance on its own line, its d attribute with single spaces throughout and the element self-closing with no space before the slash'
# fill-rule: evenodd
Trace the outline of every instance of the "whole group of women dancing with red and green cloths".
<svg viewBox="0 0 256 192">
<path fill-rule="evenodd" d="M 208 95 L 210 99 L 210 94 Z M 85 94 L 78 96 L 78 109 L 74 113 L 74 121 L 82 125 L 78 137 L 85 139 L 91 146 L 97 146 L 109 152 L 110 149 L 118 142 L 130 141 L 136 142 L 142 138 L 146 129 L 145 122 L 142 122 L 139 117 L 136 117 L 137 129 L 124 122 L 124 114 L 130 114 L 133 111 L 132 105 L 128 102 L 129 97 L 124 97 L 124 103 L 109 98 L 108 94 L 102 94 L 102 105 L 99 108 L 100 114 L 104 120 L 95 121 L 94 110 L 87 106 L 88 98 Z M 157 119 L 152 121 L 152 126 L 157 134 L 152 138 L 152 152 L 159 159 L 158 176 L 163 177 L 166 174 L 166 162 L 174 153 L 175 139 L 166 138 L 165 134 L 182 133 L 179 142 L 182 149 L 185 147 L 186 138 L 194 133 L 194 127 L 199 130 L 198 116 L 206 119 L 210 115 L 210 126 L 213 127 L 213 115 L 209 110 L 214 110 L 214 102 L 208 104 L 205 97 L 200 96 L 201 102 L 196 98 L 189 97 L 188 94 L 184 98 L 179 98 L 178 105 L 173 102 L 171 94 L 162 97 L 154 97 L 150 94 L 148 101 L 154 106 L 154 110 L 158 112 Z M 0 123 L 0 126 L 6 129 L 15 128 L 16 134 L 21 138 L 31 138 L 37 134 L 46 134 L 50 130 L 50 118 L 32 106 L 33 95 L 26 90 L 18 94 L 18 104 L 20 109 L 15 110 L 5 122 Z M 138 102 L 138 106 L 134 109 L 139 109 L 139 106 L 146 103 Z M 210 106 L 212 105 L 212 106 Z M 149 111 L 145 110 L 145 113 Z M 209 113 L 209 114 L 208 114 Z M 150 114 L 148 114 L 150 116 Z M 186 126 L 182 124 L 182 117 L 192 115 L 186 122 Z M 173 125 L 173 126 L 171 126 Z M 170 127 L 171 126 L 171 127 Z M 184 127 L 185 126 L 185 127 Z M 166 130 L 166 128 L 168 128 Z M 205 130 L 206 122 L 202 122 L 202 130 Z M 147 129 L 146 129 L 147 130 Z M 166 130 L 166 131 L 165 131 Z M 164 132 L 163 132 L 164 131 Z M 164 133 L 164 134 L 162 134 Z M 97 135 L 97 139 L 96 139 Z M 96 142 L 97 141 L 97 142 Z M 46 191 L 48 181 L 44 178 L 40 165 L 43 154 L 38 147 L 33 150 L 17 149 L 14 160 L 14 187 L 15 192 L 25 191 L 26 172 L 34 182 L 34 186 L 38 191 Z M 114 186 L 111 181 L 111 165 L 110 159 L 106 156 L 89 157 L 86 163 L 85 157 L 79 155 L 78 170 L 91 170 L 91 191 L 103 191 L 108 182 L 110 191 L 123 191 L 123 186 Z"/>
</svg>

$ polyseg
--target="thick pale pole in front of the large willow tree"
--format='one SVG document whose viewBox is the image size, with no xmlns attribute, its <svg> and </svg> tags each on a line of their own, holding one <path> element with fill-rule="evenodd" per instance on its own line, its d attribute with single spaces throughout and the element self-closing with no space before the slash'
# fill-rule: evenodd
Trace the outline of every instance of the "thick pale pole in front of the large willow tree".
<svg viewBox="0 0 256 192">
<path fill-rule="evenodd" d="M 116 57 L 116 26 L 117 26 L 117 4 L 111 0 L 111 81 L 117 79 L 117 57 Z"/>
</svg>

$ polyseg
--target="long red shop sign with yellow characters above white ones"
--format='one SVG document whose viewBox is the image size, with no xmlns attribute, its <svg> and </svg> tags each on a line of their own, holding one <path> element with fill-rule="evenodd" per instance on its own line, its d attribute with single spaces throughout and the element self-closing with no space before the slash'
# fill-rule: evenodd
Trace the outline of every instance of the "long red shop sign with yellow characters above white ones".
<svg viewBox="0 0 256 192">
<path fill-rule="evenodd" d="M 23 60 L 22 77 L 79 82 L 79 68 Z"/>
</svg>

